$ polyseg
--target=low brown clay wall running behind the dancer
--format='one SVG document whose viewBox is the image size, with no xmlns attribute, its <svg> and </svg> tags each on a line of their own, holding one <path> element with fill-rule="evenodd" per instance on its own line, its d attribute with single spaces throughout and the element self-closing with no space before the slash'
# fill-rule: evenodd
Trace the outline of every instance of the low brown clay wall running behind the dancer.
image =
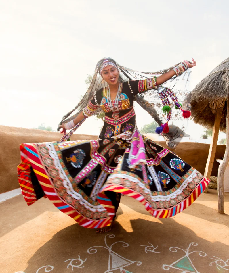
<svg viewBox="0 0 229 273">
<path fill-rule="evenodd" d="M 19 187 L 17 165 L 20 163 L 20 144 L 22 142 L 60 141 L 61 135 L 56 132 L 38 129 L 0 126 L 0 137 L 0 193 L 4 193 Z M 97 139 L 97 136 L 73 134 L 71 139 Z M 163 147 L 167 147 L 164 141 L 159 141 L 158 143 Z M 181 142 L 176 150 L 171 149 L 171 151 L 203 174 L 209 147 L 209 144 L 204 143 Z M 215 159 L 223 157 L 224 152 L 225 145 L 217 145 Z M 215 160 L 211 173 L 212 176 L 217 176 L 218 166 L 219 163 Z"/>
</svg>

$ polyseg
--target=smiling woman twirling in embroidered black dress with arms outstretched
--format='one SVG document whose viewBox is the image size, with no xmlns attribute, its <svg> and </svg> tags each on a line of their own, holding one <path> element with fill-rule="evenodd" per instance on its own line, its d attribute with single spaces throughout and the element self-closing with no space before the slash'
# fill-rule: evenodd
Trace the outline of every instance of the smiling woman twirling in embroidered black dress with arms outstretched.
<svg viewBox="0 0 229 273">
<path fill-rule="evenodd" d="M 121 193 L 138 200 L 157 218 L 174 216 L 191 205 L 209 181 L 139 132 L 133 101 L 137 94 L 159 89 L 195 66 L 192 61 L 183 61 L 158 77 L 122 82 L 117 63 L 110 58 L 100 60 L 96 68 L 107 86 L 94 92 L 75 119 L 60 126 L 64 130 L 79 126 L 101 107 L 105 121 L 100 136 L 98 140 L 22 143 L 18 179 L 28 205 L 48 197 L 79 225 L 100 233 L 111 229 Z M 167 122 L 158 133 L 169 130 L 171 94 L 169 89 L 160 93 Z M 176 97 L 172 99 L 181 108 Z"/>
</svg>

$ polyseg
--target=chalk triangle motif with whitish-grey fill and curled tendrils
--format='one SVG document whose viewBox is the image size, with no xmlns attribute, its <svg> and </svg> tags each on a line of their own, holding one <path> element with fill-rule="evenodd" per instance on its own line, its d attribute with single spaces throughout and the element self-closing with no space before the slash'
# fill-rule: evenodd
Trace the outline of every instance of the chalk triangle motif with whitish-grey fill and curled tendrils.
<svg viewBox="0 0 229 273">
<path fill-rule="evenodd" d="M 116 252 L 114 252 L 112 250 L 112 247 L 113 247 L 114 244 L 122 243 L 123 247 L 129 247 L 129 244 L 127 244 L 127 243 L 125 243 L 123 241 L 118 241 L 118 242 L 114 242 L 109 247 L 107 242 L 106 242 L 107 237 L 108 238 L 114 238 L 115 235 L 114 234 L 107 234 L 105 236 L 104 242 L 105 242 L 106 247 L 104 247 L 102 245 L 95 245 L 95 246 L 89 247 L 89 249 L 87 249 L 87 253 L 89 253 L 89 254 L 95 254 L 97 252 L 96 247 L 102 247 L 102 248 L 105 248 L 105 249 L 107 249 L 109 251 L 108 270 L 106 270 L 104 273 L 113 273 L 112 271 L 114 271 L 114 270 L 120 270 L 120 273 L 128 272 L 123 268 L 126 267 L 126 266 L 129 266 L 131 264 L 134 264 L 134 263 L 136 263 L 137 266 L 140 266 L 142 264 L 142 262 L 140 262 L 140 261 L 131 261 L 129 259 L 126 259 L 126 258 L 122 257 L 121 255 L 119 255 L 118 253 L 116 253 Z"/>
</svg>

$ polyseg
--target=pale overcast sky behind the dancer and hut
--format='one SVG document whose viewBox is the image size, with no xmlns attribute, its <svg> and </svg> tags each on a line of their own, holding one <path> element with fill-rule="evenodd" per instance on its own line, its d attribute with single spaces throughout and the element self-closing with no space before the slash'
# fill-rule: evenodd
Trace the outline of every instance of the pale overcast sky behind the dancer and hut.
<svg viewBox="0 0 229 273">
<path fill-rule="evenodd" d="M 0 124 L 56 130 L 106 56 L 138 71 L 194 57 L 192 90 L 228 57 L 228 10 L 228 0 L 0 0 Z M 152 122 L 135 110 L 138 128 Z M 91 117 L 76 133 L 101 126 Z M 203 128 L 189 121 L 186 132 L 198 138 Z"/>
</svg>

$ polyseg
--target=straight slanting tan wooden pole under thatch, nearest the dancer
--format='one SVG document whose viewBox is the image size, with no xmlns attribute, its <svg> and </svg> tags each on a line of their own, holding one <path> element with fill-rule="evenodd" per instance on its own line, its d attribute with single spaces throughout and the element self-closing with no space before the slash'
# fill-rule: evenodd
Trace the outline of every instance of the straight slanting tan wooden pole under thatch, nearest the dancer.
<svg viewBox="0 0 229 273">
<path fill-rule="evenodd" d="M 212 130 L 211 145 L 210 145 L 208 158 L 207 158 L 207 164 L 206 164 L 205 172 L 204 172 L 204 176 L 206 178 L 210 178 L 211 176 L 211 171 L 212 171 L 212 167 L 213 167 L 213 163 L 215 159 L 215 152 L 216 152 L 217 141 L 219 136 L 222 111 L 223 111 L 223 108 L 218 109 L 215 115 L 215 123 Z M 207 193 L 207 187 L 204 192 Z"/>
</svg>

